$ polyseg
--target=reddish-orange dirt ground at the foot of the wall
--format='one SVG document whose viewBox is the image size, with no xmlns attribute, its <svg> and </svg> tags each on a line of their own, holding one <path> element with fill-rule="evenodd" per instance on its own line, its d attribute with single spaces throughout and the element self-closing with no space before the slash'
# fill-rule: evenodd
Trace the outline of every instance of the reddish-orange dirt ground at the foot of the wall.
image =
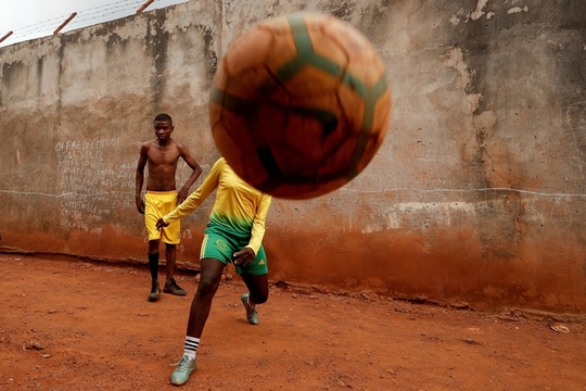
<svg viewBox="0 0 586 391">
<path fill-rule="evenodd" d="M 176 389 L 194 272 L 156 303 L 145 265 L 0 254 L 0 390 Z M 243 287 L 220 286 L 184 390 L 586 390 L 583 317 L 273 283 L 251 326 Z"/>
</svg>

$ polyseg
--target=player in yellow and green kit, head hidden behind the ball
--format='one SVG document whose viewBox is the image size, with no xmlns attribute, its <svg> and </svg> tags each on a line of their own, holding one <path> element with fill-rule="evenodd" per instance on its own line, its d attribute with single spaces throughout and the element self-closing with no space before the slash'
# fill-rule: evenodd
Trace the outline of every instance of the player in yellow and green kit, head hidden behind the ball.
<svg viewBox="0 0 586 391">
<path fill-rule="evenodd" d="M 249 289 L 241 300 L 250 324 L 258 324 L 256 304 L 263 304 L 268 299 L 268 267 L 263 237 L 271 197 L 242 180 L 224 157 L 216 161 L 198 190 L 173 212 L 161 217 L 156 226 L 163 228 L 187 216 L 216 189 L 216 201 L 204 230 L 200 283 L 191 303 L 183 357 L 171 375 L 171 383 L 176 386 L 187 382 L 195 369 L 200 338 L 228 263 L 234 264 Z"/>
</svg>

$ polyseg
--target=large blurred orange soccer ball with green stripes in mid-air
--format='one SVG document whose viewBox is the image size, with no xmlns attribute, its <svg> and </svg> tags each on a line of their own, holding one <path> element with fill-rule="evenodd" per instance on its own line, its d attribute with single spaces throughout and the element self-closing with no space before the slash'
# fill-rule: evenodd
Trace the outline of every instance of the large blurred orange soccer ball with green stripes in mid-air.
<svg viewBox="0 0 586 391">
<path fill-rule="evenodd" d="M 384 65 L 358 30 L 294 13 L 229 47 L 209 97 L 214 141 L 232 169 L 278 198 L 308 199 L 356 177 L 391 115 Z"/>
</svg>

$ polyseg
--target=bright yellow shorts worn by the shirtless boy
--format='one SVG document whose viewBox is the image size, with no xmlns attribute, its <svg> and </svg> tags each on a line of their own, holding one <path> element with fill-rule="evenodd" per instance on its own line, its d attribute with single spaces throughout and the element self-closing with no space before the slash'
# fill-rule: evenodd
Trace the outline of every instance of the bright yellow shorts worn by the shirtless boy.
<svg viewBox="0 0 586 391">
<path fill-rule="evenodd" d="M 146 191 L 144 194 L 144 225 L 149 240 L 161 239 L 164 243 L 179 244 L 181 224 L 171 223 L 162 230 L 156 229 L 156 222 L 177 206 L 177 190 Z"/>
</svg>

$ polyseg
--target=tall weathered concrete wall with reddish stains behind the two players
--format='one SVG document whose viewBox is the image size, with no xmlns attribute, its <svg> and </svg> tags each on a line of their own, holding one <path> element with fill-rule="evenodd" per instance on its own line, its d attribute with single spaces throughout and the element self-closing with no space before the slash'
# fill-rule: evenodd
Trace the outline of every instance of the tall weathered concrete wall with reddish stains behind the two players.
<svg viewBox="0 0 586 391">
<path fill-rule="evenodd" d="M 581 0 L 191 1 L 1 48 L 0 250 L 144 260 L 135 167 L 154 115 L 174 116 L 207 174 L 217 60 L 241 30 L 298 10 L 372 40 L 394 109 L 353 182 L 273 202 L 270 277 L 586 312 Z M 180 261 L 196 258 L 212 201 L 183 219 Z"/>
</svg>

